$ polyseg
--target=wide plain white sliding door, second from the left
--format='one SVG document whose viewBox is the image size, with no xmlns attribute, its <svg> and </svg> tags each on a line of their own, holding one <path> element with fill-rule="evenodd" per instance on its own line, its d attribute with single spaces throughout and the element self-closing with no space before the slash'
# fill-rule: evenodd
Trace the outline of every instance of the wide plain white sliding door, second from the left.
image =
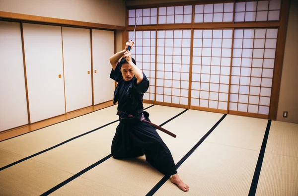
<svg viewBox="0 0 298 196">
<path fill-rule="evenodd" d="M 23 32 L 31 123 L 64 114 L 61 27 L 24 23 Z"/>
</svg>

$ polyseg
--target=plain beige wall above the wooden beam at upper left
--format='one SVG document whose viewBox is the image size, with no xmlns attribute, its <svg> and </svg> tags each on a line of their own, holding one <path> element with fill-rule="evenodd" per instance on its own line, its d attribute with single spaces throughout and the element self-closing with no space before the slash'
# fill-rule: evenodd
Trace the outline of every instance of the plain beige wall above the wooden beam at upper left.
<svg viewBox="0 0 298 196">
<path fill-rule="evenodd" d="M 0 0 L 0 11 L 125 26 L 124 0 Z"/>
</svg>

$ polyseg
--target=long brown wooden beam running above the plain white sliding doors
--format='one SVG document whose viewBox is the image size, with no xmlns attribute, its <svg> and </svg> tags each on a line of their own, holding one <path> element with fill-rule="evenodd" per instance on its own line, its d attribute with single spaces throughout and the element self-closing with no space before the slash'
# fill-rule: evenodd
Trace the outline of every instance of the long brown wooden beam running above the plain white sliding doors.
<svg viewBox="0 0 298 196">
<path fill-rule="evenodd" d="M 124 26 L 99 24 L 99 23 L 92 23 L 92 22 L 82 22 L 82 21 L 76 21 L 76 20 L 50 18 L 50 17 L 43 17 L 43 16 L 0 11 L 0 20 L 5 20 L 5 19 L 12 19 L 18 22 L 34 22 L 34 23 L 52 24 L 52 25 L 59 24 L 61 26 L 71 26 L 71 27 L 125 30 Z"/>
</svg>

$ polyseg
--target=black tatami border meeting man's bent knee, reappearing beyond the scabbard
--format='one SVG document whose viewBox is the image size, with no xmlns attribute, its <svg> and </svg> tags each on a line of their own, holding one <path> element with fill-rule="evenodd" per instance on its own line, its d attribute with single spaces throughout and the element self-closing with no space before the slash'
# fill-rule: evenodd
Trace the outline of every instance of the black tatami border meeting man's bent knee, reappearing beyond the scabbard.
<svg viewBox="0 0 298 196">
<path fill-rule="evenodd" d="M 152 106 L 150 106 L 152 107 Z M 148 109 L 148 108 L 147 108 Z M 184 110 L 183 112 L 180 112 L 178 115 L 174 116 L 173 118 L 167 120 L 166 122 L 162 123 L 161 125 L 159 125 L 159 127 L 164 126 L 165 124 L 167 124 L 168 122 L 172 121 L 173 119 L 177 118 L 178 116 L 182 115 L 183 113 L 185 113 L 188 109 Z M 48 190 L 47 192 L 43 193 L 41 196 L 48 196 L 51 193 L 53 193 L 54 191 L 57 191 L 58 189 L 60 189 L 61 187 L 63 187 L 64 185 L 68 184 L 69 182 L 71 182 L 72 180 L 76 179 L 77 177 L 79 177 L 80 175 L 86 173 L 87 171 L 89 171 L 90 169 L 96 167 L 97 165 L 99 165 L 100 163 L 108 160 L 109 158 L 112 157 L 112 154 L 109 154 L 108 156 L 104 157 L 103 159 L 97 161 L 96 163 L 90 165 L 89 167 L 83 169 L 82 171 L 78 172 L 77 174 L 75 174 L 74 176 L 70 177 L 69 179 L 63 181 L 62 183 L 60 183 L 59 185 L 53 187 L 52 189 Z"/>
</svg>

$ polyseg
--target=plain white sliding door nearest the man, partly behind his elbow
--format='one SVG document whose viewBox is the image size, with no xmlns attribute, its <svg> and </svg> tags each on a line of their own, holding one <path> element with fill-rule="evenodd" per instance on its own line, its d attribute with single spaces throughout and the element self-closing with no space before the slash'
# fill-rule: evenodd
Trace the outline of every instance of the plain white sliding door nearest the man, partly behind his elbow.
<svg viewBox="0 0 298 196">
<path fill-rule="evenodd" d="M 114 53 L 114 31 L 92 29 L 94 105 L 113 99 L 115 82 L 110 79 L 109 57 Z"/>
</svg>

